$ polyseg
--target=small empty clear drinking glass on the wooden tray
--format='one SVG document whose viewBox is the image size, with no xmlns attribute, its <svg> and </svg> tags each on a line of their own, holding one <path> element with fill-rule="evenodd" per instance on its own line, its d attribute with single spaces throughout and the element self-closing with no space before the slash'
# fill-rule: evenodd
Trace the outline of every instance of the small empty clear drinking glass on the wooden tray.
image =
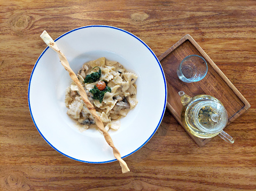
<svg viewBox="0 0 256 191">
<path fill-rule="evenodd" d="M 184 82 L 200 81 L 208 71 L 207 62 L 198 55 L 185 57 L 177 68 L 177 76 Z"/>
</svg>

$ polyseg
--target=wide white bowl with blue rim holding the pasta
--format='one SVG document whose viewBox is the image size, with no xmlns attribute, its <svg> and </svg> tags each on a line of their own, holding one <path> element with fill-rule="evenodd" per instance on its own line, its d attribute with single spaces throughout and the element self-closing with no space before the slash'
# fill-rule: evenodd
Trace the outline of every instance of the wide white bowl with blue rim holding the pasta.
<svg viewBox="0 0 256 191">
<path fill-rule="evenodd" d="M 55 41 L 75 73 L 84 62 L 104 56 L 137 74 L 138 104 L 121 119 L 120 129 L 109 133 L 122 157 L 139 150 L 157 131 L 166 107 L 165 75 L 153 51 L 133 34 L 110 26 L 77 28 Z M 81 132 L 66 114 L 65 90 L 70 83 L 58 55 L 45 48 L 28 86 L 29 110 L 37 130 L 56 151 L 71 159 L 88 163 L 115 161 L 112 148 L 99 131 Z"/>
</svg>

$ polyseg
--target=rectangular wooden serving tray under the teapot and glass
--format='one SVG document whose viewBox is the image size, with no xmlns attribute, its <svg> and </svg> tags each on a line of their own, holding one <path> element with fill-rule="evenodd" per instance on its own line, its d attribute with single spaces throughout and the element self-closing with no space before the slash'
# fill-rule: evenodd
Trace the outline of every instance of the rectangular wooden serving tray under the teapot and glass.
<svg viewBox="0 0 256 191">
<path fill-rule="evenodd" d="M 203 80 L 186 83 L 177 77 L 176 70 L 184 57 L 191 54 L 204 57 L 208 63 L 208 72 Z M 173 114 L 174 118 L 182 127 L 182 104 L 181 97 L 178 94 L 179 91 L 183 91 L 191 97 L 199 94 L 206 94 L 219 99 L 228 112 L 228 124 L 250 108 L 250 104 L 246 101 L 243 95 L 236 89 L 236 87 L 229 81 L 229 79 L 222 73 L 222 71 L 190 35 L 185 35 L 164 54 L 159 56 L 158 59 L 165 72 L 167 82 L 167 109 Z M 189 132 L 188 134 L 198 146 L 204 146 L 211 140 L 211 138 L 203 139 L 195 137 Z"/>
</svg>

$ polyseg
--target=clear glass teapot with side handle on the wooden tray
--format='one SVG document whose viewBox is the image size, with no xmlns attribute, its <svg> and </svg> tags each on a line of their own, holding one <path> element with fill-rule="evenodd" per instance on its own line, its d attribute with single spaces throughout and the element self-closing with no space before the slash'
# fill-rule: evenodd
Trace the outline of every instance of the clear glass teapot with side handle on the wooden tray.
<svg viewBox="0 0 256 191">
<path fill-rule="evenodd" d="M 228 122 L 228 114 L 222 103 L 210 95 L 190 97 L 180 91 L 183 110 L 181 119 L 184 127 L 194 136 L 211 138 L 219 135 L 228 143 L 234 139 L 223 131 Z"/>
</svg>

